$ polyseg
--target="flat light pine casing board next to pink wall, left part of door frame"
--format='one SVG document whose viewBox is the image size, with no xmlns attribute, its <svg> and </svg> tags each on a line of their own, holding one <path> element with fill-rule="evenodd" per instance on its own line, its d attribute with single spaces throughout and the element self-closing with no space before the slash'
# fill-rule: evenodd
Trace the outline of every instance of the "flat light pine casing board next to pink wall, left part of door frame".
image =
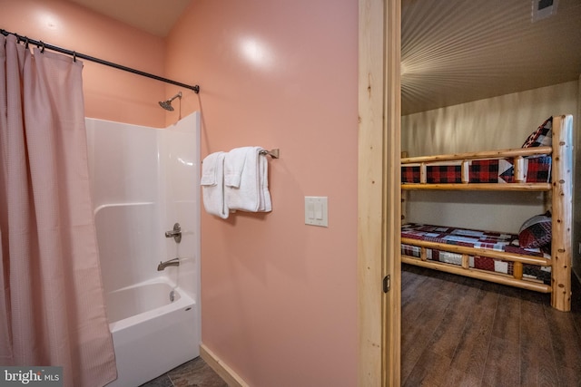
<svg viewBox="0 0 581 387">
<path fill-rule="evenodd" d="M 383 25 L 383 0 L 359 0 L 359 387 L 381 385 Z"/>
</svg>

